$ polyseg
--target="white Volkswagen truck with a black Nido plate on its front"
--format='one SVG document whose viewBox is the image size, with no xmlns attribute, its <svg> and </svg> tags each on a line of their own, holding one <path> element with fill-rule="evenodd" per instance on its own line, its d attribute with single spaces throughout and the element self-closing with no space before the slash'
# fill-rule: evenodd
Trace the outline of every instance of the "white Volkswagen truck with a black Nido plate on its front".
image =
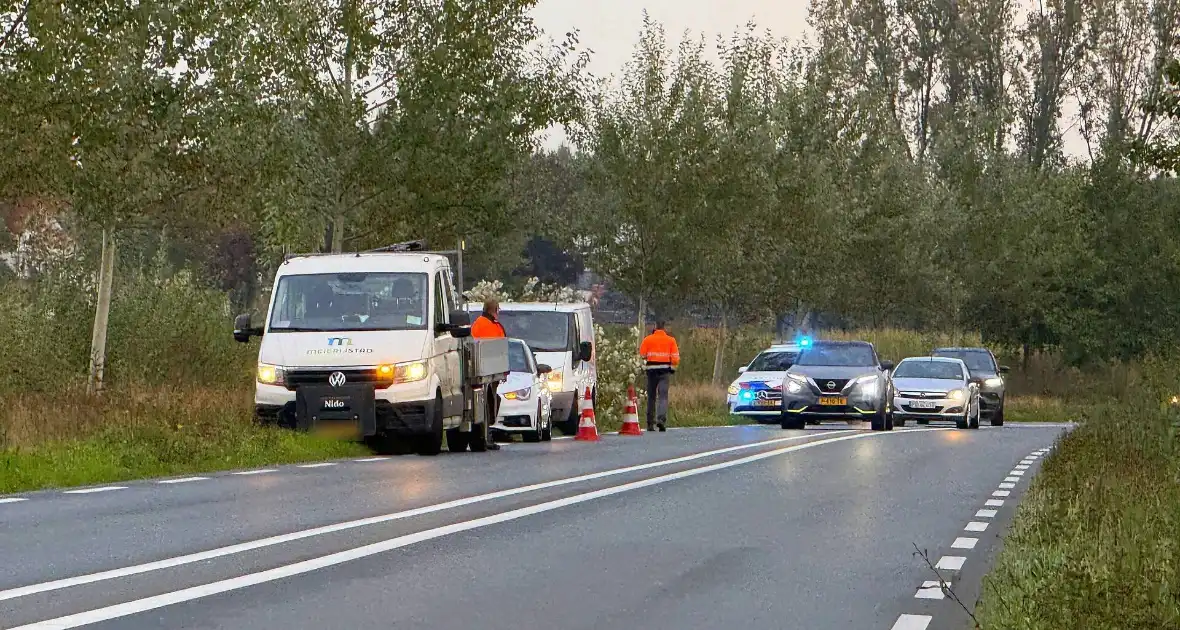
<svg viewBox="0 0 1180 630">
<path fill-rule="evenodd" d="M 500 352 L 507 372 L 507 344 L 471 343 L 467 324 L 445 255 L 303 255 L 280 265 L 266 323 L 241 315 L 234 337 L 262 337 L 258 420 L 434 454 L 444 431 L 453 451 L 485 448 L 486 428 L 464 425 L 468 359 Z"/>
</svg>

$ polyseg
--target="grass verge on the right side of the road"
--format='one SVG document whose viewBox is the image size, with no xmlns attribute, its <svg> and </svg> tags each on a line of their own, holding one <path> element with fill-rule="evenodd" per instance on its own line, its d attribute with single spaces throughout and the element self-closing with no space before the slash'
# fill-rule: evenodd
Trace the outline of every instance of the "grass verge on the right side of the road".
<svg viewBox="0 0 1180 630">
<path fill-rule="evenodd" d="M 1180 628 L 1180 441 L 1153 396 L 1088 409 L 1021 503 L 988 630 Z"/>
</svg>

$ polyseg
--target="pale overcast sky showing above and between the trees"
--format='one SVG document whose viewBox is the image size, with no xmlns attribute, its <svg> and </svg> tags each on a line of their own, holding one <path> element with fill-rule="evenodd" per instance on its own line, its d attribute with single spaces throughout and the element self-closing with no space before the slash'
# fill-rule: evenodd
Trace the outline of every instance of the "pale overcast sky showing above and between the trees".
<svg viewBox="0 0 1180 630">
<path fill-rule="evenodd" d="M 808 0 L 540 0 L 533 17 L 556 39 L 577 28 L 582 46 L 594 52 L 590 71 L 597 77 L 618 74 L 638 41 L 643 9 L 662 24 L 675 47 L 682 33 L 704 33 L 712 41 L 732 34 L 753 19 L 778 37 L 798 39 L 807 31 Z M 1073 107 L 1067 104 L 1066 111 Z M 564 134 L 550 131 L 545 146 L 557 147 Z M 1067 133 L 1067 152 L 1080 156 L 1084 145 Z"/>
</svg>

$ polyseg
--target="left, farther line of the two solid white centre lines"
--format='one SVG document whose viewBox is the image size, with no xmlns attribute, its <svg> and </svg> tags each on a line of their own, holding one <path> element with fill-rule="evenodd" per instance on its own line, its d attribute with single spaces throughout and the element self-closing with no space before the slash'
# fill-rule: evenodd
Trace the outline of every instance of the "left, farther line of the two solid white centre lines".
<svg viewBox="0 0 1180 630">
<path fill-rule="evenodd" d="M 935 431 L 935 429 L 927 429 L 927 431 Z M 938 431 L 945 431 L 945 429 L 938 429 Z M 852 433 L 852 431 L 851 429 L 850 431 L 838 431 L 838 432 L 832 432 L 828 435 L 847 434 L 847 433 Z M 715 451 L 706 451 L 706 452 L 701 452 L 701 453 L 693 453 L 693 454 L 689 454 L 689 455 L 682 455 L 682 457 L 678 457 L 678 458 L 664 459 L 664 460 L 661 460 L 661 461 L 651 461 L 651 462 L 648 462 L 648 464 L 638 464 L 638 465 L 635 465 L 635 466 L 628 466 L 625 468 L 615 468 L 615 470 L 602 471 L 602 472 L 596 472 L 596 473 L 582 474 L 582 475 L 578 475 L 578 477 L 568 477 L 565 479 L 556 479 L 553 481 L 543 481 L 543 483 L 532 484 L 532 485 L 529 485 L 529 486 L 519 486 L 519 487 L 509 488 L 509 490 L 500 490 L 500 491 L 497 491 L 497 492 L 490 492 L 487 494 L 478 494 L 478 496 L 474 496 L 474 497 L 465 497 L 463 499 L 454 499 L 454 500 L 451 500 L 451 501 L 445 501 L 445 503 L 434 504 L 434 505 L 427 505 L 427 506 L 424 506 L 424 507 L 415 507 L 413 510 L 406 510 L 404 512 L 393 512 L 393 513 L 389 513 L 389 514 L 381 514 L 381 516 L 376 516 L 376 517 L 369 517 L 369 518 L 362 518 L 362 519 L 358 519 L 358 520 L 349 520 L 349 521 L 345 521 L 345 523 L 337 523 L 335 525 L 324 525 L 322 527 L 314 527 L 314 529 L 310 529 L 310 530 L 303 530 L 303 531 L 291 532 L 291 533 L 284 533 L 284 534 L 280 534 L 280 536 L 271 536 L 269 538 L 261 538 L 261 539 L 250 540 L 250 542 L 247 542 L 247 543 L 238 543 L 236 545 L 229 545 L 229 546 L 224 546 L 224 547 L 211 549 L 211 550 L 201 551 L 201 552 L 197 552 L 197 553 L 189 553 L 186 556 L 177 556 L 175 558 L 166 558 L 166 559 L 163 559 L 163 560 L 156 560 L 156 562 L 150 562 L 150 563 L 145 563 L 145 564 L 137 564 L 137 565 L 133 565 L 133 566 L 125 566 L 125 567 L 122 567 L 122 569 L 112 569 L 112 570 L 109 570 L 109 571 L 100 571 L 100 572 L 97 572 L 97 573 L 88 573 L 88 575 L 76 576 L 76 577 L 71 577 L 71 578 L 63 578 L 63 579 L 57 579 L 57 580 L 53 580 L 53 582 L 44 582 L 41 584 L 31 584 L 28 586 L 19 586 L 19 588 L 9 589 L 9 590 L 6 590 L 6 591 L 0 591 L 0 602 L 2 602 L 5 599 L 14 599 L 17 597 L 25 597 L 25 596 L 28 596 L 28 595 L 34 595 L 34 593 L 45 592 L 45 591 L 54 591 L 54 590 L 59 590 L 59 589 L 68 589 L 71 586 L 78 586 L 78 585 L 81 585 L 81 584 L 91 584 L 91 583 L 94 583 L 94 582 L 103 582 L 103 580 L 106 580 L 106 579 L 116 579 L 116 578 L 126 577 L 126 576 L 135 576 L 135 575 L 138 575 L 138 573 L 146 573 L 149 571 L 157 571 L 157 570 L 160 570 L 160 569 L 171 569 L 173 566 L 181 566 L 181 565 L 185 565 L 185 564 L 191 564 L 191 563 L 209 560 L 209 559 L 212 559 L 212 558 L 221 558 L 223 556 L 232 556 L 235 553 L 242 553 L 242 552 L 251 551 L 251 550 L 255 550 L 255 549 L 262 549 L 262 547 L 268 547 L 268 546 L 273 546 L 273 545 L 280 545 L 280 544 L 283 544 L 283 543 L 290 543 L 293 540 L 301 540 L 303 538 L 312 538 L 312 537 L 315 537 L 315 536 L 322 536 L 322 534 L 327 534 L 327 533 L 335 533 L 335 532 L 340 532 L 340 531 L 345 531 L 345 530 L 352 530 L 352 529 L 356 529 L 356 527 L 363 527 L 363 526 L 367 526 L 367 525 L 376 525 L 376 524 L 380 524 L 380 523 L 388 523 L 391 520 L 400 520 L 400 519 L 406 519 L 406 518 L 419 517 L 419 516 L 422 516 L 422 514 L 430 514 L 430 513 L 433 513 L 433 512 L 441 512 L 444 510 L 451 510 L 451 508 L 454 508 L 454 507 L 463 507 L 463 506 L 472 505 L 472 504 L 477 504 L 477 503 L 491 501 L 491 500 L 494 500 L 494 499 L 503 499 L 505 497 L 513 497 L 513 496 L 517 496 L 517 494 L 524 494 L 525 492 L 532 492 L 532 491 L 537 491 L 537 490 L 546 490 L 546 488 L 558 487 L 558 486 L 565 486 L 565 485 L 570 485 L 570 484 L 578 484 L 578 483 L 582 483 L 582 481 L 591 481 L 591 480 L 595 480 L 595 479 L 603 479 L 603 478 L 607 478 L 607 477 L 614 477 L 614 475 L 618 475 L 618 474 L 627 474 L 627 473 L 637 472 L 637 471 L 644 471 L 644 470 L 649 470 L 649 468 L 657 468 L 657 467 L 662 467 L 662 466 L 670 466 L 670 465 L 674 465 L 674 464 L 683 464 L 683 462 L 687 462 L 687 461 L 694 461 L 694 460 L 699 460 L 699 459 L 709 458 L 709 457 L 713 457 L 713 455 L 720 455 L 720 454 L 725 454 L 725 453 L 732 453 L 732 452 L 735 452 L 735 451 L 743 451 L 743 449 L 756 448 L 756 447 L 761 447 L 761 446 L 769 446 L 769 445 L 775 445 L 775 444 L 782 444 L 782 442 L 787 442 L 787 441 L 798 441 L 798 440 L 806 439 L 808 437 L 811 437 L 811 435 L 792 435 L 789 438 L 776 438 L 774 440 L 766 440 L 766 441 L 760 441 L 760 442 L 742 444 L 742 445 L 738 445 L 738 446 L 728 446 L 726 448 L 717 448 Z M 247 473 L 235 473 L 235 474 L 251 474 L 254 472 L 255 471 L 249 471 Z M 270 472 L 270 471 L 268 471 L 268 472 Z"/>
</svg>

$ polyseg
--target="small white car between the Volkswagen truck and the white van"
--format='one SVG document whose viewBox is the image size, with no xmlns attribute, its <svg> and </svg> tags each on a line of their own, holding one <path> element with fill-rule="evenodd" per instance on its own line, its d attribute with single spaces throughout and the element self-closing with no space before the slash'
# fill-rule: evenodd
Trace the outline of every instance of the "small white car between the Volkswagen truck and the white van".
<svg viewBox="0 0 1180 630">
<path fill-rule="evenodd" d="M 509 375 L 499 386 L 500 409 L 492 431 L 519 433 L 526 442 L 549 441 L 553 435 L 553 394 L 546 380 L 551 368 L 538 365 L 529 344 L 509 340 Z"/>
</svg>

